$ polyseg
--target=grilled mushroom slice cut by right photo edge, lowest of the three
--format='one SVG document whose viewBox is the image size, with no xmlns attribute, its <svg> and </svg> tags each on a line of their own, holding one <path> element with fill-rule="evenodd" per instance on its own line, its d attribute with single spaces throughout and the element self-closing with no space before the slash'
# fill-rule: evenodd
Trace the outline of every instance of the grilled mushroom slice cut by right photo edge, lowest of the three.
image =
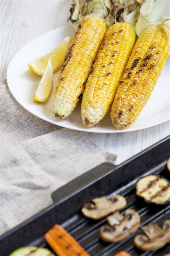
<svg viewBox="0 0 170 256">
<path fill-rule="evenodd" d="M 141 229 L 146 235 L 136 235 L 134 244 L 142 251 L 155 251 L 170 242 L 170 220 L 164 221 L 162 229 L 154 222 Z"/>
</svg>

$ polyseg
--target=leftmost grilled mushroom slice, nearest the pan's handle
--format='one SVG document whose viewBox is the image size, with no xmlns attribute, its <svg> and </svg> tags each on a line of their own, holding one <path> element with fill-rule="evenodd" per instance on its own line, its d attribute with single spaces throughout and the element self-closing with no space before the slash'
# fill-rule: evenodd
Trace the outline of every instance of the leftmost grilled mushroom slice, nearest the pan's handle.
<svg viewBox="0 0 170 256">
<path fill-rule="evenodd" d="M 81 211 L 84 216 L 94 220 L 99 220 L 114 211 L 123 209 L 126 205 L 126 199 L 120 195 L 114 195 L 110 199 L 103 196 L 94 198 L 90 203 L 85 203 L 81 208 Z"/>
</svg>

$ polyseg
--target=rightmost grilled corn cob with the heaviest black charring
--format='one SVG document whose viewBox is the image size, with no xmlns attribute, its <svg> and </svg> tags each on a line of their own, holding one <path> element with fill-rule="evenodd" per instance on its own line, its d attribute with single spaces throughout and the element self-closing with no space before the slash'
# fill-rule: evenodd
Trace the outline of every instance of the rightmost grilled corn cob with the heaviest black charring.
<svg viewBox="0 0 170 256">
<path fill-rule="evenodd" d="M 136 42 L 111 109 L 116 129 L 128 128 L 150 98 L 168 57 L 168 38 L 163 27 L 152 25 Z"/>
</svg>

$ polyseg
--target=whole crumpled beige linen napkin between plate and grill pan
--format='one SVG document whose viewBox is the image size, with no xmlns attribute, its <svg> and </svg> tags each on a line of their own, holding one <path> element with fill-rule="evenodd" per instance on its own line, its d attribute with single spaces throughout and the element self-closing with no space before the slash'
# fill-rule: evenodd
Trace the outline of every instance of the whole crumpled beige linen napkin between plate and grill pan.
<svg viewBox="0 0 170 256">
<path fill-rule="evenodd" d="M 52 125 L 33 116 L 0 81 L 0 233 L 52 203 L 51 193 L 116 156 L 96 147 L 88 133 Z"/>
</svg>

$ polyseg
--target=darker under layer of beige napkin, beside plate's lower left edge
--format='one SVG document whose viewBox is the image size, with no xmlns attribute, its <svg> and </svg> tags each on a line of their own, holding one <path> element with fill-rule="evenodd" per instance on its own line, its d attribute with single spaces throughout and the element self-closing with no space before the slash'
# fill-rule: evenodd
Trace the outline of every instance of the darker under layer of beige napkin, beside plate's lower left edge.
<svg viewBox="0 0 170 256">
<path fill-rule="evenodd" d="M 34 116 L 18 104 L 5 79 L 0 80 L 0 90 L 0 147 L 61 128 Z"/>
</svg>

